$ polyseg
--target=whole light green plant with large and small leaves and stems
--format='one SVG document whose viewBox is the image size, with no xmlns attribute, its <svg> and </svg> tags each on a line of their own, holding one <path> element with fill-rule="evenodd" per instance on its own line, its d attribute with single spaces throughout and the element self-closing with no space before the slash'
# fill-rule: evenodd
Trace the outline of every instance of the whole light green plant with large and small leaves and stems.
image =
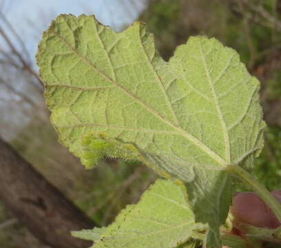
<svg viewBox="0 0 281 248">
<path fill-rule="evenodd" d="M 246 247 L 280 240 L 224 234 L 238 177 L 281 220 L 281 206 L 247 172 L 262 150 L 258 80 L 216 39 L 191 37 L 169 62 L 143 23 L 115 33 L 93 16 L 61 15 L 39 44 L 51 121 L 91 168 L 104 156 L 142 161 L 159 179 L 109 227 L 74 232 L 93 247 Z M 262 238 L 260 238 L 262 237 Z M 183 245 L 185 243 L 185 245 Z"/>
</svg>

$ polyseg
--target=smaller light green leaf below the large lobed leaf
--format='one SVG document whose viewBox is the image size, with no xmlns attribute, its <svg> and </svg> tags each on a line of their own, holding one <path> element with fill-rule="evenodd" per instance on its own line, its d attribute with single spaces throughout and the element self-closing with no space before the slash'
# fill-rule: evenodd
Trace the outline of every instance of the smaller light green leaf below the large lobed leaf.
<svg viewBox="0 0 281 248">
<path fill-rule="evenodd" d="M 98 239 L 96 229 L 94 236 L 91 230 L 75 232 L 74 236 L 94 240 L 93 248 L 178 247 L 202 226 L 195 223 L 185 195 L 181 186 L 158 179 L 138 204 L 128 205 L 112 225 L 98 231 Z"/>
</svg>

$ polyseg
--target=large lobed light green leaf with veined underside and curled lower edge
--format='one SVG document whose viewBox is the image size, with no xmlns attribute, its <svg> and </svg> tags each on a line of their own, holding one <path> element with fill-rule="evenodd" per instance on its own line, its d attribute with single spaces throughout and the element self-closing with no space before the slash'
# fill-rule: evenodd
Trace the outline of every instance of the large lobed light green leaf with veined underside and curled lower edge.
<svg viewBox="0 0 281 248">
<path fill-rule="evenodd" d="M 105 152 L 126 157 L 112 144 L 131 144 L 136 158 L 185 183 L 196 220 L 211 228 L 207 247 L 219 247 L 231 197 L 221 169 L 250 167 L 262 148 L 259 83 L 238 54 L 191 37 L 166 63 L 143 23 L 116 34 L 93 16 L 61 15 L 44 33 L 37 61 L 61 142 L 87 166 Z M 114 142 L 101 139 L 102 153 L 90 156 L 83 136 L 104 133 Z"/>
</svg>

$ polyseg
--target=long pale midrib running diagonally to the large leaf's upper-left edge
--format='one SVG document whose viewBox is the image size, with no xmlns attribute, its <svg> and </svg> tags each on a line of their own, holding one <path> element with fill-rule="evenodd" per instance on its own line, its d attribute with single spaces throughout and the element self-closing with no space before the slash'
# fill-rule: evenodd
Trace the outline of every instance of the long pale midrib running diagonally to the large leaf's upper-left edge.
<svg viewBox="0 0 281 248">
<path fill-rule="evenodd" d="M 70 48 L 70 50 L 72 50 L 77 56 L 79 56 L 79 58 L 81 59 L 81 61 L 83 61 L 84 63 L 86 63 L 87 65 L 90 65 L 91 68 L 93 68 L 94 70 L 96 70 L 96 72 L 100 73 L 107 81 L 110 81 L 111 83 L 113 83 L 114 85 L 116 85 L 116 87 L 119 87 L 121 90 L 123 90 L 123 92 L 125 92 L 128 96 L 132 97 L 132 99 L 134 99 L 135 101 L 138 101 L 138 103 L 141 103 L 141 105 L 143 105 L 143 107 L 145 107 L 147 110 L 149 110 L 149 112 L 151 112 L 152 114 L 154 114 L 154 116 L 156 116 L 157 118 L 159 118 L 161 121 L 164 121 L 165 123 L 167 123 L 169 126 L 173 127 L 175 130 L 177 130 L 180 134 L 182 134 L 183 136 L 185 136 L 185 138 L 187 138 L 189 141 L 191 141 L 192 143 L 194 143 L 199 149 L 201 149 L 202 151 L 204 151 L 206 154 L 208 154 L 212 159 L 214 159 L 214 161 L 216 161 L 218 164 L 220 164 L 222 167 L 226 167 L 229 163 L 227 161 L 225 161 L 225 159 L 221 158 L 218 154 L 216 154 L 216 152 L 214 152 L 213 150 L 211 150 L 209 147 L 207 147 L 205 144 L 203 144 L 201 141 L 199 141 L 197 138 L 195 138 L 194 136 L 192 136 L 191 134 L 187 133 L 186 130 L 183 130 L 182 127 L 179 127 L 177 125 L 175 125 L 174 123 L 171 123 L 171 121 L 169 121 L 169 119 L 167 119 L 165 116 L 163 116 L 162 114 L 160 114 L 159 112 L 157 112 L 156 110 L 154 110 L 152 107 L 150 107 L 149 105 L 147 105 L 147 103 L 141 101 L 141 99 L 139 99 L 136 95 L 132 94 L 131 92 L 129 92 L 125 87 L 123 87 L 122 85 L 120 85 L 117 81 L 114 81 L 110 76 L 108 76 L 107 74 L 105 74 L 105 72 L 103 72 L 103 70 L 99 69 L 96 67 L 96 65 L 94 65 L 91 61 L 89 61 L 87 58 L 85 58 L 85 56 L 83 56 L 83 54 L 80 54 L 78 51 L 75 50 L 75 48 L 72 47 L 72 45 L 70 45 L 70 43 L 68 43 L 65 39 L 63 39 L 63 37 L 61 37 L 60 34 L 58 34 L 57 32 L 55 32 L 54 30 L 50 30 L 50 32 L 52 32 L 56 37 L 58 37 L 65 45 L 67 45 L 68 48 Z"/>
</svg>

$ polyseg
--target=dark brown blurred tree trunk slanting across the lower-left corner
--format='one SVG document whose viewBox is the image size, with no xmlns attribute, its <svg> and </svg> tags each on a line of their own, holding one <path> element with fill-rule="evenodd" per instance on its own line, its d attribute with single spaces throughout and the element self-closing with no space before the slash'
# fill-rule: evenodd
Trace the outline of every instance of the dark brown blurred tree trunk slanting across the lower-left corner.
<svg viewBox="0 0 281 248">
<path fill-rule="evenodd" d="M 92 220 L 1 138 L 0 198 L 46 245 L 53 248 L 88 248 L 92 245 L 92 242 L 70 235 L 70 231 L 94 227 Z"/>
</svg>

